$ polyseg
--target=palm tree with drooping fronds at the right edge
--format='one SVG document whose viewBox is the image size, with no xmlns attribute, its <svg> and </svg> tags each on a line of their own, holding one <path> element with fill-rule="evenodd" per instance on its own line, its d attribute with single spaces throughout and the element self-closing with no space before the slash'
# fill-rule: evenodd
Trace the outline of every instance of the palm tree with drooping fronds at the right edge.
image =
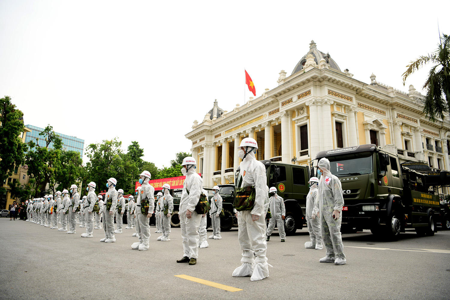
<svg viewBox="0 0 450 300">
<path fill-rule="evenodd" d="M 450 111 L 450 37 L 442 34 L 438 48 L 432 54 L 420 56 L 416 61 L 411 62 L 403 73 L 403 85 L 414 71 L 424 65 L 432 63 L 433 66 L 428 72 L 427 81 L 423 89 L 427 90 L 423 114 L 430 121 L 436 121 L 436 116 L 444 119 L 444 112 Z M 445 99 L 444 99 L 445 96 Z"/>
</svg>

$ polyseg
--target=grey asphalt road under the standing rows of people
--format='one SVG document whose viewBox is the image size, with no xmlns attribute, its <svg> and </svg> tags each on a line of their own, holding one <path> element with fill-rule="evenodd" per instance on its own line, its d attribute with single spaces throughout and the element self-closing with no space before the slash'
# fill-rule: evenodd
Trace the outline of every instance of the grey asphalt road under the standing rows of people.
<svg viewBox="0 0 450 300">
<path fill-rule="evenodd" d="M 241 251 L 238 230 L 223 232 L 199 249 L 197 265 L 182 257 L 180 229 L 159 242 L 152 229 L 150 249 L 132 250 L 134 229 L 117 242 L 58 232 L 25 221 L 0 219 L 0 299 L 449 299 L 450 231 L 433 237 L 402 233 L 397 242 L 376 240 L 367 231 L 344 234 L 347 264 L 319 263 L 325 250 L 305 249 L 307 230 L 281 243 L 277 230 L 268 242 L 270 277 L 259 282 L 233 278 Z M 208 235 L 211 230 L 208 230 Z M 175 275 L 206 279 L 242 291 L 225 291 Z"/>
</svg>

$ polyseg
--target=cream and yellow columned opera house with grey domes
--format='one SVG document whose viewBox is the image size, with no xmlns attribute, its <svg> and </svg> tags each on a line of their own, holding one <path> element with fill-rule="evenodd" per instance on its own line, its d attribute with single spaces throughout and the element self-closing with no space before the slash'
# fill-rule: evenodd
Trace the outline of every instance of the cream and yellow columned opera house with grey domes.
<svg viewBox="0 0 450 300">
<path fill-rule="evenodd" d="M 205 186 L 234 182 L 241 161 L 236 146 L 246 137 L 257 140 L 258 160 L 307 165 L 320 151 L 373 143 L 398 154 L 400 163 L 450 170 L 448 114 L 428 121 L 413 85 L 403 92 L 374 74 L 370 83 L 353 79 L 314 41 L 286 75 L 282 70 L 276 88 L 230 112 L 215 101 L 202 122 L 193 122 L 185 136 Z"/>
</svg>

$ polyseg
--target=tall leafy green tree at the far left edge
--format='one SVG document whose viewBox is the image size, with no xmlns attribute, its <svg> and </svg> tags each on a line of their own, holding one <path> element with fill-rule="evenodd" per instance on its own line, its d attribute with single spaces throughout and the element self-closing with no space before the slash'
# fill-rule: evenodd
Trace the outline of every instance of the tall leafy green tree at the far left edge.
<svg viewBox="0 0 450 300">
<path fill-rule="evenodd" d="M 20 139 L 25 129 L 23 125 L 23 112 L 11 103 L 9 96 L 0 99 L 1 125 L 0 125 L 0 195 L 6 189 L 3 183 L 13 174 L 15 166 L 23 164 L 27 145 Z"/>
</svg>

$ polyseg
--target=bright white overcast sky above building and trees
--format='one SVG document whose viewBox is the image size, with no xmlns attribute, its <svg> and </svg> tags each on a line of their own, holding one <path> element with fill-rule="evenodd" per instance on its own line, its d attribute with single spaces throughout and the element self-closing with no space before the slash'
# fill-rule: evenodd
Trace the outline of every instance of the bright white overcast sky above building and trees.
<svg viewBox="0 0 450 300">
<path fill-rule="evenodd" d="M 398 4 L 397 4 L 398 3 Z M 0 97 L 25 124 L 118 137 L 169 166 L 217 99 L 231 111 L 317 48 L 354 78 L 421 90 L 405 66 L 450 34 L 450 1 L 0 1 Z M 84 160 L 87 157 L 84 155 Z"/>
</svg>

